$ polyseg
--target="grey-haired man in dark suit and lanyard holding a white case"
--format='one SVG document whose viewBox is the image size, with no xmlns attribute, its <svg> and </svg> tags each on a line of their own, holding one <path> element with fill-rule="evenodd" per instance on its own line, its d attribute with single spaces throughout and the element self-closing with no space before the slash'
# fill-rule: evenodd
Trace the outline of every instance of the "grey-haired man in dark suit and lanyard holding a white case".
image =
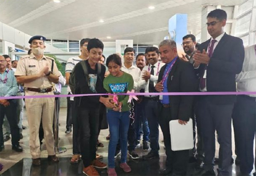
<svg viewBox="0 0 256 176">
<path fill-rule="evenodd" d="M 176 43 L 173 40 L 163 40 L 159 45 L 159 53 L 163 63 L 160 69 L 158 84 L 159 92 L 192 92 L 197 90 L 198 79 L 194 74 L 192 64 L 178 58 Z M 160 174 L 185 176 L 189 162 L 189 150 L 173 151 L 169 121 L 178 119 L 186 125 L 192 115 L 193 96 L 160 96 L 159 124 L 163 133 L 166 148 L 166 169 Z"/>
</svg>

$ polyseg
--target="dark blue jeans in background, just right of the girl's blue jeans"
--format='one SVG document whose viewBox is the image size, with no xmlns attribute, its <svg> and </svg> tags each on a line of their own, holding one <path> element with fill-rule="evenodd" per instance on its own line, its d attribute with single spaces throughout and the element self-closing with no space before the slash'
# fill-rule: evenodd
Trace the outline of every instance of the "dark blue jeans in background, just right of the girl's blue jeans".
<svg viewBox="0 0 256 176">
<path fill-rule="evenodd" d="M 141 132 L 141 123 L 143 129 L 143 141 L 149 141 L 149 123 L 148 119 L 145 116 L 145 100 L 142 100 L 140 103 L 136 103 L 135 108 L 135 131 L 136 131 L 136 140 L 140 140 Z"/>
</svg>

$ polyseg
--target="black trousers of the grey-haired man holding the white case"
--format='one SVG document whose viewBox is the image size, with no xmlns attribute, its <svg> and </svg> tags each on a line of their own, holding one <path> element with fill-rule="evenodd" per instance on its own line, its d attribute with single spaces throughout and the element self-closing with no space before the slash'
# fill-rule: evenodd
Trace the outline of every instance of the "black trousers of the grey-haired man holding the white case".
<svg viewBox="0 0 256 176">
<path fill-rule="evenodd" d="M 173 171 L 178 176 L 186 176 L 189 164 L 189 150 L 173 151 L 171 149 L 171 135 L 169 121 L 172 120 L 171 109 L 164 108 L 160 105 L 159 124 L 163 134 L 165 153 L 166 153 L 166 168 Z"/>
</svg>

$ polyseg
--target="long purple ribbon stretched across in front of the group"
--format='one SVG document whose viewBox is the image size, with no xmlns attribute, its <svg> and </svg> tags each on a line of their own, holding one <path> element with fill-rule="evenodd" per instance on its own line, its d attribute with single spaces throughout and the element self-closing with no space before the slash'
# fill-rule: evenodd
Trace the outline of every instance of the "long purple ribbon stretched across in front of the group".
<svg viewBox="0 0 256 176">
<path fill-rule="evenodd" d="M 221 92 L 158 92 L 158 93 L 117 93 L 118 95 L 256 95 L 256 91 L 221 91 Z M 35 96 L 7 96 L 0 97 L 2 99 L 22 99 L 22 98 L 53 98 L 53 97 L 80 97 L 80 96 L 103 96 L 103 95 L 114 95 L 109 93 L 98 93 L 98 94 L 69 94 L 69 95 L 35 95 Z"/>
</svg>

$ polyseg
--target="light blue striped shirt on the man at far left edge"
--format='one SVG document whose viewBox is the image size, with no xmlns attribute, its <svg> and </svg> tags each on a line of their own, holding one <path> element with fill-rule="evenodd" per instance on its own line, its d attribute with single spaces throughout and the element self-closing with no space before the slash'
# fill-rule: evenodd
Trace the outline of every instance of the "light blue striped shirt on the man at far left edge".
<svg viewBox="0 0 256 176">
<path fill-rule="evenodd" d="M 5 77 L 7 78 L 7 82 L 3 83 L 1 80 L 4 80 Z M 0 96 L 16 96 L 19 86 L 14 76 L 14 71 L 6 68 L 3 73 L 0 73 L 0 78 Z"/>
</svg>

